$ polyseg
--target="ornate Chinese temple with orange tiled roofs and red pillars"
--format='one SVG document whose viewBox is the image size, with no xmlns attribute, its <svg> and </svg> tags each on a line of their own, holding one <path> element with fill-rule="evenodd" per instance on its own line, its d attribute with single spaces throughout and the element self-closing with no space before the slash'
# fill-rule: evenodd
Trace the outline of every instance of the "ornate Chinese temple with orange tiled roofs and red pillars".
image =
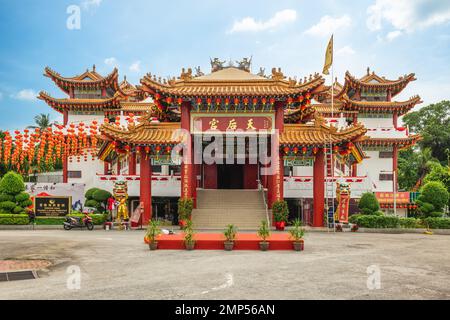
<svg viewBox="0 0 450 320">
<path fill-rule="evenodd" d="M 144 224 L 174 215 L 178 198 L 190 198 L 194 225 L 205 228 L 254 228 L 282 199 L 291 218 L 321 227 L 337 182 L 350 185 L 353 206 L 364 192 L 389 198 L 399 191 L 398 151 L 420 138 L 399 117 L 421 101 L 392 99 L 414 74 L 387 80 L 368 69 L 327 86 L 319 74 L 300 81 L 279 68 L 254 74 L 250 62 L 214 59 L 209 74 L 147 74 L 136 86 L 119 82 L 117 69 L 103 77 L 94 66 L 66 78 L 46 68 L 67 96 L 39 98 L 63 114 L 64 125 L 101 124 L 98 159 L 65 159 L 63 183 L 112 190 L 114 181 L 128 181 L 130 209 L 142 212 Z M 406 214 L 408 203 L 397 202 L 397 213 Z"/>
</svg>

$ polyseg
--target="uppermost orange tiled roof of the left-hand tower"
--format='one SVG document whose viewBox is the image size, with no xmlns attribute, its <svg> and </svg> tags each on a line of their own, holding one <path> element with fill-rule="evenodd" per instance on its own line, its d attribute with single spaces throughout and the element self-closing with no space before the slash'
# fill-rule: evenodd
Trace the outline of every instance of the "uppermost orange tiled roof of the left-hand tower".
<svg viewBox="0 0 450 320">
<path fill-rule="evenodd" d="M 114 68 L 114 70 L 107 75 L 106 77 L 102 77 L 95 71 L 95 66 L 93 70 L 87 70 L 83 74 L 71 78 L 62 77 L 56 71 L 50 69 L 49 67 L 45 68 L 45 76 L 51 78 L 56 85 L 61 88 L 64 92 L 69 94 L 70 88 L 108 88 L 111 87 L 114 90 L 119 88 L 118 85 L 118 70 Z"/>
</svg>

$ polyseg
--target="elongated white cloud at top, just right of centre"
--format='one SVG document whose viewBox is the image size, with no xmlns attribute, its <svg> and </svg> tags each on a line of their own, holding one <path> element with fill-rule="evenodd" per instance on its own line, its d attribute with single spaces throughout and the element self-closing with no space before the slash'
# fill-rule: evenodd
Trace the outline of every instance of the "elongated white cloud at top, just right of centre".
<svg viewBox="0 0 450 320">
<path fill-rule="evenodd" d="M 228 33 L 273 30 L 276 27 L 292 23 L 295 20 L 297 20 L 297 12 L 295 10 L 286 9 L 278 11 L 272 18 L 266 21 L 256 21 L 253 17 L 246 17 L 240 21 L 235 21 Z"/>
</svg>

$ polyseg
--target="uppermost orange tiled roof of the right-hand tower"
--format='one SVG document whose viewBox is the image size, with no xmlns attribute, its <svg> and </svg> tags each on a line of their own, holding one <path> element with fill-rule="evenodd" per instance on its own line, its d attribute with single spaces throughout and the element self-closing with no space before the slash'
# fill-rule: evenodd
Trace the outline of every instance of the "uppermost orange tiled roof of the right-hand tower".
<svg viewBox="0 0 450 320">
<path fill-rule="evenodd" d="M 357 79 L 352 76 L 348 71 L 345 73 L 345 82 L 342 90 L 336 94 L 336 97 L 342 97 L 348 92 L 349 89 L 364 88 L 366 90 L 379 91 L 379 90 L 391 90 L 391 95 L 395 96 L 399 94 L 411 81 L 415 81 L 415 74 L 411 73 L 400 77 L 397 80 L 387 80 L 385 78 L 377 76 L 375 73 L 364 76 L 361 79 Z"/>
</svg>

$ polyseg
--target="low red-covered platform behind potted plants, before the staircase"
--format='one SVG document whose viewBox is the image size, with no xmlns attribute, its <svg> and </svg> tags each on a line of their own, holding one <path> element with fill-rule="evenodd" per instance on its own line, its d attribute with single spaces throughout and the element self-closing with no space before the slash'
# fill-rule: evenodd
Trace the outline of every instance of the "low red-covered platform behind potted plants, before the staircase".
<svg viewBox="0 0 450 320">
<path fill-rule="evenodd" d="M 225 237 L 221 233 L 197 233 L 195 250 L 223 250 Z M 259 250 L 261 239 L 256 234 L 242 233 L 236 236 L 234 250 Z M 268 239 L 269 250 L 293 250 L 292 241 L 287 233 L 274 233 Z M 158 249 L 185 250 L 183 234 L 160 235 Z"/>
</svg>

